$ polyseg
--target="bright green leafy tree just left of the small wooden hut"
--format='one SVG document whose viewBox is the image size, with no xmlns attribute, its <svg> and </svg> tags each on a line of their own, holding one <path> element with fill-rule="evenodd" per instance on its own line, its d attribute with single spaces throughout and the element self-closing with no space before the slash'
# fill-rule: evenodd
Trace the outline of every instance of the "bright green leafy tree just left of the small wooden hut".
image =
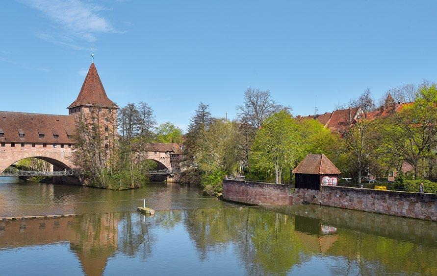
<svg viewBox="0 0 437 276">
<path fill-rule="evenodd" d="M 299 126 L 285 110 L 268 117 L 257 131 L 252 147 L 254 166 L 275 171 L 275 183 L 281 183 L 283 169 L 291 167 L 300 156 Z"/>
</svg>

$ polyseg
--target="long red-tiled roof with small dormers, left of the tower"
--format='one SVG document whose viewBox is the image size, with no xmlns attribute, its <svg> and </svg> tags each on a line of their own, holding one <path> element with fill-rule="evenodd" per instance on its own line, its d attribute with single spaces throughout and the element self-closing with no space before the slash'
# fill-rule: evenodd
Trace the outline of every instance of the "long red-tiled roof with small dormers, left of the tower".
<svg viewBox="0 0 437 276">
<path fill-rule="evenodd" d="M 0 111 L 0 141 L 73 143 L 75 117 Z"/>
</svg>

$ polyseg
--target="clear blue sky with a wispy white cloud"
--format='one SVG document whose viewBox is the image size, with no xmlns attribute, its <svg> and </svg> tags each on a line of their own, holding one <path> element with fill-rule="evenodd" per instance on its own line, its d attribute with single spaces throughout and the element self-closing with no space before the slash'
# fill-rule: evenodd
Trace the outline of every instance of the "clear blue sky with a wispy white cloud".
<svg viewBox="0 0 437 276">
<path fill-rule="evenodd" d="M 437 80 L 437 1 L 20 0 L 0 4 L 0 110 L 68 114 L 90 65 L 119 106 L 182 128 L 232 118 L 249 87 L 294 115 L 367 87 Z"/>
</svg>

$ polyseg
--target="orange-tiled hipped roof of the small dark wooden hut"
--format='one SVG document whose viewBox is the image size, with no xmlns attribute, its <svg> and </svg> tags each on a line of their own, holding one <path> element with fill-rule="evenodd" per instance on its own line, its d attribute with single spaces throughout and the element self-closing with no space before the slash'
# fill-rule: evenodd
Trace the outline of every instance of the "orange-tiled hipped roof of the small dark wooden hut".
<svg viewBox="0 0 437 276">
<path fill-rule="evenodd" d="M 308 154 L 293 173 L 331 175 L 340 174 L 340 170 L 324 154 Z"/>
</svg>

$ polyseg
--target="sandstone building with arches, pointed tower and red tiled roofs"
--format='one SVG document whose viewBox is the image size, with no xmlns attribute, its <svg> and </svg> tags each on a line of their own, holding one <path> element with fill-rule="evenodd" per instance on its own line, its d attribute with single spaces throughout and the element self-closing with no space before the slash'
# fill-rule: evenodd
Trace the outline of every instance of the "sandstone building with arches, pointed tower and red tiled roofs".
<svg viewBox="0 0 437 276">
<path fill-rule="evenodd" d="M 102 115 L 101 133 L 104 148 L 114 144 L 109 133 L 116 127 L 117 109 L 103 88 L 94 63 L 90 65 L 77 99 L 70 104 L 69 115 L 35 114 L 0 111 L 0 173 L 16 161 L 35 157 L 50 162 L 58 169 L 71 169 L 77 116 L 97 111 Z M 115 118 L 114 123 L 108 123 Z M 114 130 L 116 133 L 117 130 Z M 159 168 L 179 167 L 181 147 L 176 143 L 150 143 L 147 158 Z"/>
</svg>

